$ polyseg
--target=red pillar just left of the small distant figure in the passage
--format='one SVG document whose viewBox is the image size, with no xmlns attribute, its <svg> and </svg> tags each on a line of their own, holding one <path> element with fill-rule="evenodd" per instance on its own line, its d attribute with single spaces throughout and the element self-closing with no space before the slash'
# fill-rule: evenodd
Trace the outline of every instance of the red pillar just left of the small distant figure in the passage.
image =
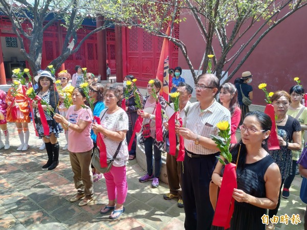
<svg viewBox="0 0 307 230">
<path fill-rule="evenodd" d="M 103 26 L 103 17 L 96 17 L 96 28 Z M 106 30 L 97 32 L 98 74 L 101 80 L 106 79 Z"/>
</svg>

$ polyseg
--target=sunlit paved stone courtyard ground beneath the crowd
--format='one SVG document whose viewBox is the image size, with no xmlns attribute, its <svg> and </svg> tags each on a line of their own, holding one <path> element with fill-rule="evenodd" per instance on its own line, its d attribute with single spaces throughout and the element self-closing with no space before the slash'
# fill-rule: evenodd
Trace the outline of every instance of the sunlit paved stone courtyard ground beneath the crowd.
<svg viewBox="0 0 307 230">
<path fill-rule="evenodd" d="M 17 130 L 9 124 L 9 150 L 0 150 L 0 229 L 184 229 L 184 210 L 176 200 L 164 200 L 168 187 L 160 183 L 157 189 L 150 182 L 140 183 L 145 172 L 136 160 L 127 166 L 128 195 L 126 212 L 117 220 L 102 216 L 99 211 L 107 203 L 104 179 L 94 183 L 95 197 L 83 207 L 69 199 L 75 195 L 73 173 L 67 151 L 60 151 L 60 164 L 52 171 L 42 170 L 47 161 L 42 141 L 30 123 L 30 148 L 18 152 Z M 64 135 L 59 143 L 64 146 Z M 303 222 L 305 204 L 299 198 L 301 178 L 296 176 L 290 198 L 282 199 L 278 215 L 299 214 Z M 303 229 L 303 224 L 277 224 L 277 229 Z"/>
</svg>

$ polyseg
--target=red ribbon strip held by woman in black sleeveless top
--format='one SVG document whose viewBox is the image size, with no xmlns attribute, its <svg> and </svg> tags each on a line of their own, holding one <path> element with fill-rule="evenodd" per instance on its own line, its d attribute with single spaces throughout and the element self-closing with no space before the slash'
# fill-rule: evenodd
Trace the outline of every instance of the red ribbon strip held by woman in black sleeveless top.
<svg viewBox="0 0 307 230">
<path fill-rule="evenodd" d="M 230 227 L 230 219 L 234 209 L 233 189 L 237 188 L 235 164 L 225 166 L 220 193 L 218 194 L 212 225 Z"/>
</svg>

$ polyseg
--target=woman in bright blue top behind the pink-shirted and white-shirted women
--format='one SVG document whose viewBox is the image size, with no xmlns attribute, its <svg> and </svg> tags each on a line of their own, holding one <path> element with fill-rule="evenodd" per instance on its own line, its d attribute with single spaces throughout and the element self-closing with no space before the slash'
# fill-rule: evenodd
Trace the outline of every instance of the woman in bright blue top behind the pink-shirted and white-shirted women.
<svg viewBox="0 0 307 230">
<path fill-rule="evenodd" d="M 103 91 L 104 87 L 101 83 L 98 82 L 93 82 L 92 85 L 90 86 L 89 90 L 89 96 L 93 100 L 94 103 L 94 108 L 93 108 L 93 114 L 96 117 L 99 117 L 100 112 L 104 109 L 104 103 L 103 103 Z M 97 148 L 97 142 L 96 142 L 96 137 L 97 135 L 94 133 L 94 131 L 91 129 L 91 138 L 93 140 L 94 148 L 93 148 L 93 153 L 94 150 Z M 93 156 L 92 153 L 92 156 Z M 102 178 L 102 174 L 94 168 L 92 165 L 92 172 L 93 172 L 93 181 L 96 182 Z"/>
</svg>

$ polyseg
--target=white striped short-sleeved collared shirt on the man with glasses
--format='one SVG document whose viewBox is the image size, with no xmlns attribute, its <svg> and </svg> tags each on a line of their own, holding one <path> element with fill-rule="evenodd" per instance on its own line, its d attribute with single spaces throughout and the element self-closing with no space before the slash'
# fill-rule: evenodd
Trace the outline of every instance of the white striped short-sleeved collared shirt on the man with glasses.
<svg viewBox="0 0 307 230">
<path fill-rule="evenodd" d="M 193 133 L 205 136 L 211 139 L 211 135 L 217 136 L 218 128 L 216 124 L 220 121 L 230 122 L 230 111 L 220 103 L 214 102 L 211 106 L 201 112 L 200 102 L 191 105 L 184 124 L 186 128 Z M 184 140 L 184 147 L 195 154 L 208 155 L 215 153 L 216 150 L 207 149 L 202 145 L 195 145 L 192 140 Z"/>
</svg>

